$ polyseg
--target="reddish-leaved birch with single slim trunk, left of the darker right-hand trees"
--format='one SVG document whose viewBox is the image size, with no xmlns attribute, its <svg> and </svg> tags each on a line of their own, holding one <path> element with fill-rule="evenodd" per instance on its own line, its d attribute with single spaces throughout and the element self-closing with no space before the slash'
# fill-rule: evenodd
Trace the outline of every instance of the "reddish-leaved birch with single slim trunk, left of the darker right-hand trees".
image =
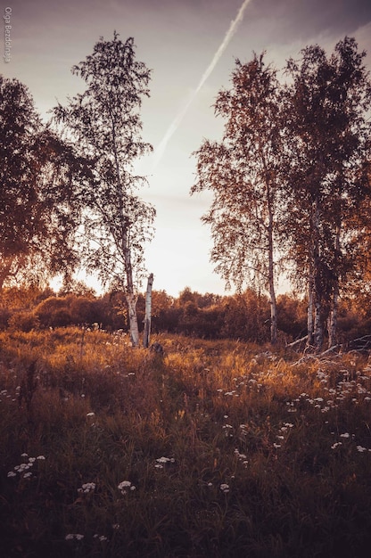
<svg viewBox="0 0 371 558">
<path fill-rule="evenodd" d="M 270 296 L 271 342 L 276 343 L 276 235 L 282 156 L 280 92 L 276 71 L 263 54 L 235 62 L 232 88 L 219 92 L 217 116 L 227 119 L 221 142 L 205 140 L 195 152 L 197 180 L 191 193 L 210 190 L 202 221 L 211 227 L 211 261 L 234 283 L 258 284 Z M 281 203 L 281 207 L 279 207 Z"/>
</svg>

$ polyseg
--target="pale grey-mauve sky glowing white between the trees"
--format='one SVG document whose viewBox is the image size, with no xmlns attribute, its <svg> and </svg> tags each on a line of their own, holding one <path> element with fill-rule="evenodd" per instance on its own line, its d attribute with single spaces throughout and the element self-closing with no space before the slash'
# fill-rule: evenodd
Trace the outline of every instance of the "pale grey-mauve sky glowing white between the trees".
<svg viewBox="0 0 371 558">
<path fill-rule="evenodd" d="M 190 196 L 192 155 L 203 139 L 218 140 L 225 122 L 213 111 L 218 91 L 230 86 L 235 60 L 266 52 L 282 69 L 307 45 L 328 53 L 345 36 L 367 51 L 371 68 L 370 0 L 2 0 L 12 25 L 6 78 L 29 87 L 45 121 L 57 103 L 84 89 L 71 67 L 93 52 L 99 37 L 134 37 L 136 59 L 152 70 L 144 99 L 143 138 L 154 152 L 138 162 L 147 176 L 141 195 L 157 210 L 155 237 L 145 249 L 153 289 L 177 296 L 193 291 L 224 294 L 210 263 L 210 228 L 201 217 L 211 194 Z M 10 17 L 9 17 L 10 16 Z M 3 18 L 2 18 L 3 19 Z M 3 41 L 4 45 L 4 41 Z M 4 47 L 3 47 L 4 49 Z M 2 58 L 4 58 L 2 56 Z M 145 285 L 144 285 L 145 288 Z M 278 291 L 289 289 L 280 283 Z"/>
</svg>

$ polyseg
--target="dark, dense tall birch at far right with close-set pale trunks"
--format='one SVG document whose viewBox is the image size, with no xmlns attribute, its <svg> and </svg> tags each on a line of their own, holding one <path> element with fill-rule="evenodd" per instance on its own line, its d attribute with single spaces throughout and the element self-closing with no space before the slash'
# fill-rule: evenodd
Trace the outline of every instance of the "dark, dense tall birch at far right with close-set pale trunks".
<svg viewBox="0 0 371 558">
<path fill-rule="evenodd" d="M 326 322 L 329 345 L 336 341 L 340 288 L 352 267 L 350 224 L 369 196 L 359 170 L 369 157 L 371 87 L 366 53 L 352 38 L 329 57 L 317 45 L 301 54 L 300 62 L 287 64 L 286 231 L 296 272 L 309 285 L 309 343 L 318 350 Z"/>
</svg>

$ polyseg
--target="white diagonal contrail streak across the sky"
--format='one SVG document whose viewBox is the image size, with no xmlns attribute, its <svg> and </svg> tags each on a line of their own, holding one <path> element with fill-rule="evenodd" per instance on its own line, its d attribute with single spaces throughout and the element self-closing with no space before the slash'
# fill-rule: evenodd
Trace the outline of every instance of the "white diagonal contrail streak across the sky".
<svg viewBox="0 0 371 558">
<path fill-rule="evenodd" d="M 159 162 L 161 161 L 162 156 L 163 156 L 163 154 L 166 150 L 166 147 L 169 144 L 170 137 L 174 134 L 174 132 L 177 130 L 177 127 L 179 126 L 180 122 L 185 117 L 185 112 L 188 110 L 189 106 L 194 102 L 195 96 L 200 92 L 200 89 L 202 88 L 203 84 L 205 83 L 207 78 L 209 78 L 210 73 L 212 72 L 212 70 L 214 70 L 215 66 L 218 64 L 218 61 L 219 61 L 221 55 L 226 50 L 227 45 L 229 44 L 231 38 L 235 35 L 235 31 L 236 31 L 238 25 L 243 20 L 243 12 L 244 12 L 247 4 L 249 4 L 249 3 L 250 3 L 250 0 L 244 0 L 241 8 L 239 9 L 239 11 L 238 11 L 238 13 L 235 17 L 235 20 L 231 21 L 231 24 L 229 26 L 229 29 L 227 30 L 227 33 L 226 33 L 226 36 L 223 39 L 223 42 L 218 47 L 218 50 L 214 54 L 209 66 L 204 71 L 204 73 L 202 75 L 202 78 L 200 79 L 200 83 L 194 89 L 194 92 L 191 94 L 187 103 L 185 103 L 185 106 L 183 107 L 183 109 L 178 112 L 176 118 L 171 122 L 171 124 L 170 124 L 169 128 L 167 129 L 165 135 L 161 139 L 160 144 L 158 144 L 158 146 L 156 147 L 156 149 L 154 151 L 154 154 L 153 154 L 153 168 L 152 168 L 153 171 L 157 167 Z"/>
</svg>

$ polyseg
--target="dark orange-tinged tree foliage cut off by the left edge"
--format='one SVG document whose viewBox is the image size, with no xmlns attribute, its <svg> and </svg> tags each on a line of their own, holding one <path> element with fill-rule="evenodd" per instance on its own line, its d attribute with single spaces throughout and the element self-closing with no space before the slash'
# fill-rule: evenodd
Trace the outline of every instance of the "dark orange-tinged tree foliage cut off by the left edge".
<svg viewBox="0 0 371 558">
<path fill-rule="evenodd" d="M 76 263 L 78 183 L 69 144 L 42 124 L 26 86 L 0 77 L 0 289 L 40 281 Z"/>
</svg>

